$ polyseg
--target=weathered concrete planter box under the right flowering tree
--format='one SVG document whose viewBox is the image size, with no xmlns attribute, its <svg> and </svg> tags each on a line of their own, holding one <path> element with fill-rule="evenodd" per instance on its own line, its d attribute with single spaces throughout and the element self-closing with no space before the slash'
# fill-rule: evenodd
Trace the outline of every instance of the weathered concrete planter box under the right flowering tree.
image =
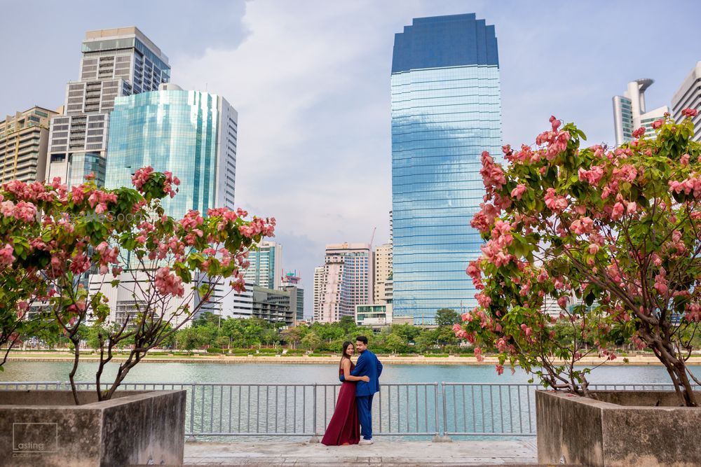
<svg viewBox="0 0 701 467">
<path fill-rule="evenodd" d="M 539 463 L 701 466 L 701 408 L 679 407 L 669 391 L 594 394 L 536 392 Z"/>
</svg>

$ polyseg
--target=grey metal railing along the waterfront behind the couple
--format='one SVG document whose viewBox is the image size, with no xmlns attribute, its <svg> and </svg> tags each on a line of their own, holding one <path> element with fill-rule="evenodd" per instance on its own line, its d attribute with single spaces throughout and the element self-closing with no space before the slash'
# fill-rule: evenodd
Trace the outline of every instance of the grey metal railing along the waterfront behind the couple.
<svg viewBox="0 0 701 467">
<path fill-rule="evenodd" d="M 79 382 L 79 390 L 95 383 Z M 107 387 L 107 385 L 105 385 Z M 189 439 L 220 436 L 318 440 L 333 415 L 339 384 L 123 383 L 121 390 L 187 391 Z M 382 383 L 373 400 L 379 436 L 536 435 L 537 384 Z M 0 382 L 5 390 L 69 390 L 69 382 Z M 673 390 L 671 384 L 592 384 L 592 390 Z M 1 404 L 1 400 L 0 400 Z"/>
</svg>

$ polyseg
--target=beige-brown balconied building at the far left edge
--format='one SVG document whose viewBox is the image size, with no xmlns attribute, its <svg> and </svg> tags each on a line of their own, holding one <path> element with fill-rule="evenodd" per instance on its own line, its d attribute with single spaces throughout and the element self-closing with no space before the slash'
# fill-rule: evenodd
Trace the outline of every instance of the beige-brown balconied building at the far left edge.
<svg viewBox="0 0 701 467">
<path fill-rule="evenodd" d="M 57 115 L 43 107 L 32 107 L 0 122 L 0 183 L 46 179 L 49 125 Z"/>
</svg>

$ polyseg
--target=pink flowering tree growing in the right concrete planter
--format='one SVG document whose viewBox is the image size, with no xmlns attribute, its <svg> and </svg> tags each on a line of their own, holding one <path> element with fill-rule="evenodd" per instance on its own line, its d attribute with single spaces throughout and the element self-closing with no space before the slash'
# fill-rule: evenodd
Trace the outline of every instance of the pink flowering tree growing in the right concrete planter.
<svg viewBox="0 0 701 467">
<path fill-rule="evenodd" d="M 665 365 L 682 405 L 697 405 L 686 365 L 701 322 L 695 115 L 667 115 L 655 137 L 640 128 L 615 149 L 580 146 L 583 132 L 552 117 L 536 146 L 503 147 L 505 167 L 482 154 L 486 195 L 471 225 L 486 244 L 467 269 L 479 305 L 455 328 L 478 358 L 480 346 L 494 349 L 498 372 L 519 365 L 588 396 L 582 358 L 611 361 L 615 344 L 634 344 Z M 571 326 L 571 344 L 554 338 L 556 322 Z"/>
</svg>

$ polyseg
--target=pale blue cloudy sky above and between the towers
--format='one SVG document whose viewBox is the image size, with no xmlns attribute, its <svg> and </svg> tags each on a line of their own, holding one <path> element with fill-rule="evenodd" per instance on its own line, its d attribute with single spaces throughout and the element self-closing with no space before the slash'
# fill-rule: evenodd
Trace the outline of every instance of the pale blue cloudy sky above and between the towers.
<svg viewBox="0 0 701 467">
<path fill-rule="evenodd" d="M 696 1 L 0 0 L 0 116 L 63 104 L 85 32 L 135 25 L 171 81 L 238 111 L 236 204 L 277 219 L 283 267 L 313 269 L 328 243 L 387 242 L 390 68 L 412 18 L 476 13 L 495 25 L 503 141 L 532 144 L 550 115 L 613 144 L 611 97 L 653 78 L 669 105 L 698 51 Z M 2 117 L 0 117 L 2 118 Z M 179 175 L 179 174 L 176 174 Z M 181 178 L 182 175 L 181 175 Z"/>
</svg>

